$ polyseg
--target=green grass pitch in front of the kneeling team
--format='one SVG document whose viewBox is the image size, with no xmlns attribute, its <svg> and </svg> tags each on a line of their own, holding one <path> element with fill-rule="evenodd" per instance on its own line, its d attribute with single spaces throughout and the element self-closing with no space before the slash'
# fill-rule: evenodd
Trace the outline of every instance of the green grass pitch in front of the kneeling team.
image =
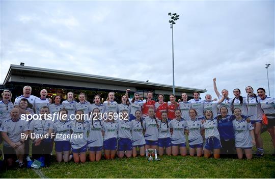
<svg viewBox="0 0 275 179">
<path fill-rule="evenodd" d="M 274 178 L 270 136 L 262 134 L 267 155 L 252 160 L 205 159 L 162 156 L 161 161 L 145 158 L 101 160 L 84 164 L 52 162 L 48 168 L 16 169 L 0 173 L 1 178 Z"/>
</svg>

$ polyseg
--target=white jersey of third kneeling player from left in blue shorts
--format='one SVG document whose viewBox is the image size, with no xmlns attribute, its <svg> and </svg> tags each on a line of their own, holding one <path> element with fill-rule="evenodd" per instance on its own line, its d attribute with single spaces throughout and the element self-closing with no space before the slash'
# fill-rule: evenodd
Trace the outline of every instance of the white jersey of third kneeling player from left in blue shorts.
<svg viewBox="0 0 275 179">
<path fill-rule="evenodd" d="M 103 146 L 102 125 L 100 120 L 90 120 L 90 132 L 88 136 L 88 147 Z M 93 122 L 93 123 L 92 123 Z"/>
</svg>

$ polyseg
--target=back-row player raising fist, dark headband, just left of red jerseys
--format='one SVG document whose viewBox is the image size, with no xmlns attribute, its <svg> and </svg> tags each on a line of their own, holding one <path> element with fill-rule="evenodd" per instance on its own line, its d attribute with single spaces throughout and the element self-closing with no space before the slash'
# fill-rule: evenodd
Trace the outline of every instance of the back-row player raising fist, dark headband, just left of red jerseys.
<svg viewBox="0 0 275 179">
<path fill-rule="evenodd" d="M 130 89 L 126 90 L 125 95 L 127 97 L 128 97 L 128 92 L 129 91 L 130 91 Z M 130 108 L 130 120 L 133 120 L 133 119 L 135 119 L 135 116 L 134 116 L 135 112 L 137 110 L 142 111 L 142 107 L 143 107 L 143 104 L 144 104 L 145 101 L 140 99 L 139 92 L 135 92 L 134 93 L 134 98 L 129 99 L 129 101 L 130 101 L 130 105 L 131 105 L 131 108 Z"/>
</svg>

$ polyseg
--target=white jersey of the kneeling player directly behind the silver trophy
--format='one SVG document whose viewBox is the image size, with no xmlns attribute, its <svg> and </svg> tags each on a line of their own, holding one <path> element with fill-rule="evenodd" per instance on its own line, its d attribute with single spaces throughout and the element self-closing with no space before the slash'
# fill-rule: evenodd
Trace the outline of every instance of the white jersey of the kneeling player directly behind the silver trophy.
<svg viewBox="0 0 275 179">
<path fill-rule="evenodd" d="M 154 118 L 145 117 L 143 121 L 143 128 L 145 130 L 144 138 L 146 140 L 158 140 L 158 128 Z"/>
</svg>

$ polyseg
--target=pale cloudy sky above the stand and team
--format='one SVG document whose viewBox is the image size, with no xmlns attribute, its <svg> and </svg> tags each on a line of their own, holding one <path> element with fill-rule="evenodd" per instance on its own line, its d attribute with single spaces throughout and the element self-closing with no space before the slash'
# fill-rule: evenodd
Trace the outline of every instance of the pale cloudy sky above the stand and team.
<svg viewBox="0 0 275 179">
<path fill-rule="evenodd" d="M 0 84 L 10 64 L 207 89 L 274 87 L 274 1 L 3 1 Z M 172 91 L 171 91 L 172 92 Z M 201 94 L 204 98 L 206 93 Z"/>
</svg>

